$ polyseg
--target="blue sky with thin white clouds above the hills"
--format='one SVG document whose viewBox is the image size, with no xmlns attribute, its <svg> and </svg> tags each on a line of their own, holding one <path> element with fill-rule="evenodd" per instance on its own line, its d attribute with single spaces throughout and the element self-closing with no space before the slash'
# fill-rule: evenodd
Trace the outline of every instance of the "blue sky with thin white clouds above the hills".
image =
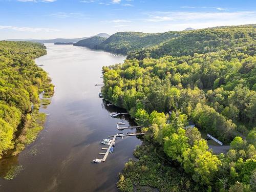
<svg viewBox="0 0 256 192">
<path fill-rule="evenodd" d="M 0 0 L 0 39 L 256 24 L 256 1 Z"/>
</svg>

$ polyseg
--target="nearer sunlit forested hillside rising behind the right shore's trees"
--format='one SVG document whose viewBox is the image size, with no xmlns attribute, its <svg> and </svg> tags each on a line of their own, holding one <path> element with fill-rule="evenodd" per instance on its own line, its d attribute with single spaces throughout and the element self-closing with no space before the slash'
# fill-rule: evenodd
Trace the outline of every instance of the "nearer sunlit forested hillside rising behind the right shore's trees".
<svg viewBox="0 0 256 192">
<path fill-rule="evenodd" d="M 183 31 L 177 38 L 148 49 L 134 51 L 127 58 L 159 58 L 164 55 L 193 56 L 194 53 L 219 50 L 233 50 L 252 55 L 255 35 L 255 25 Z"/>
</svg>

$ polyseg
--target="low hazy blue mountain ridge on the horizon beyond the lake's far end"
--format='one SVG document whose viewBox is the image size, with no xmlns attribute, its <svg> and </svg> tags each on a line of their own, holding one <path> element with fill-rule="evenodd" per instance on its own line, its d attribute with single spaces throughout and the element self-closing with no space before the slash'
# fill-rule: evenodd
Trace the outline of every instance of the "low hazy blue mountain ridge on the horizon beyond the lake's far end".
<svg viewBox="0 0 256 192">
<path fill-rule="evenodd" d="M 99 37 L 106 37 L 108 38 L 110 35 L 106 34 L 106 33 L 99 33 L 97 35 L 94 36 L 99 36 Z M 91 36 L 91 37 L 94 37 Z M 8 41 L 33 41 L 33 42 L 77 42 L 79 40 L 82 39 L 86 39 L 86 38 L 90 38 L 90 37 L 82 37 L 82 38 L 56 38 L 56 39 L 7 39 Z"/>
</svg>

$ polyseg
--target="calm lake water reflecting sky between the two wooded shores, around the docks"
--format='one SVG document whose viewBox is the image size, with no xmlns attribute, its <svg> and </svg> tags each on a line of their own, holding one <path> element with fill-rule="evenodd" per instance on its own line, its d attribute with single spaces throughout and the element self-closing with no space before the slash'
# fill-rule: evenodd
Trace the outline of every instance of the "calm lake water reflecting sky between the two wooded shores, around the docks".
<svg viewBox="0 0 256 192">
<path fill-rule="evenodd" d="M 46 46 L 47 55 L 35 60 L 55 85 L 51 104 L 41 109 L 49 114 L 45 129 L 17 157 L 0 161 L 2 171 L 12 165 L 23 167 L 14 179 L 0 179 L 0 191 L 118 191 L 118 173 L 141 141 L 135 136 L 117 138 L 114 153 L 105 162 L 92 162 L 102 157 L 100 141 L 117 133 L 120 118 L 134 125 L 129 116 L 109 116 L 123 110 L 103 104 L 100 87 L 94 84 L 102 83 L 102 66 L 125 57 L 72 45 Z"/>
</svg>

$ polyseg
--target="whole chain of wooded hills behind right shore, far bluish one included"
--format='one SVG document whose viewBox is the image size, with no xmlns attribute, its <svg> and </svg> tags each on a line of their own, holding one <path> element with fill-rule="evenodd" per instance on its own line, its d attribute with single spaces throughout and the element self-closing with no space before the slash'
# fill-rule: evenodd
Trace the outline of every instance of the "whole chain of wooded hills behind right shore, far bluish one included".
<svg viewBox="0 0 256 192">
<path fill-rule="evenodd" d="M 254 27 L 255 25 L 216 27 L 165 33 L 117 32 L 105 40 L 91 37 L 80 40 L 75 45 L 128 54 L 127 58 L 137 59 L 159 58 L 164 55 L 193 56 L 194 53 L 234 48 L 249 53 L 249 45 L 253 43 L 255 36 Z"/>
</svg>

